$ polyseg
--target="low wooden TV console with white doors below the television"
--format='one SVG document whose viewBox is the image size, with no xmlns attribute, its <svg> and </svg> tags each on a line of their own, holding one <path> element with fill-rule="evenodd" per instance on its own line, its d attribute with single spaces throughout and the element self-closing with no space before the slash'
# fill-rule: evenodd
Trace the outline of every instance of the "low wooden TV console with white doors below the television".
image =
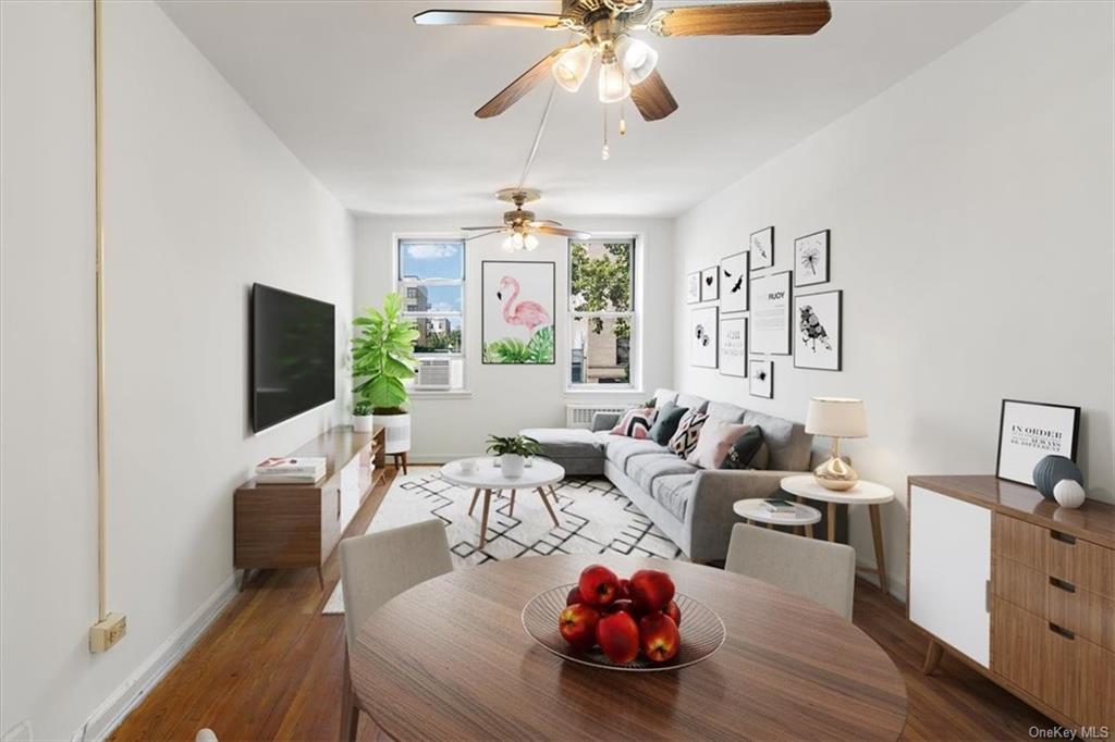
<svg viewBox="0 0 1115 742">
<path fill-rule="evenodd" d="M 333 428 L 293 457 L 324 457 L 326 476 L 312 485 L 260 485 L 254 479 L 233 496 L 233 566 L 241 587 L 252 569 L 321 565 L 384 471 L 384 428 L 370 433 Z"/>
</svg>

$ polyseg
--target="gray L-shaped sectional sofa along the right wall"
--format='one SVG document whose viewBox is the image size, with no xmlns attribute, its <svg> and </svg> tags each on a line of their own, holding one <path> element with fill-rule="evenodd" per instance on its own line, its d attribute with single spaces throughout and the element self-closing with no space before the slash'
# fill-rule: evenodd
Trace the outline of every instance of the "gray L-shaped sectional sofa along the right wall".
<svg viewBox="0 0 1115 742">
<path fill-rule="evenodd" d="M 791 473 L 809 471 L 824 460 L 813 451 L 813 436 L 798 422 L 783 420 L 727 402 L 708 401 L 669 389 L 655 392 L 658 407 L 675 401 L 711 418 L 763 429 L 758 469 L 701 469 L 652 440 L 611 436 L 619 416 L 598 412 L 591 430 L 534 428 L 522 433 L 539 439 L 545 456 L 566 473 L 605 476 L 694 562 L 716 562 L 728 554 L 731 527 L 739 521 L 736 500 L 776 497 L 778 482 Z"/>
</svg>

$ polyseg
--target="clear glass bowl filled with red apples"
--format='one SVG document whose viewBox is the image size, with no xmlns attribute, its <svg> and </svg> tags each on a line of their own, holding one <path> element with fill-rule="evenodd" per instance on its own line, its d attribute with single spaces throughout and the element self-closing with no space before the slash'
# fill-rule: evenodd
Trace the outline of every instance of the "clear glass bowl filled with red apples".
<svg viewBox="0 0 1115 742">
<path fill-rule="evenodd" d="M 629 672 L 677 670 L 724 644 L 724 622 L 678 593 L 670 576 L 640 569 L 621 578 L 590 565 L 575 585 L 559 585 L 523 607 L 523 627 L 560 657 Z"/>
</svg>

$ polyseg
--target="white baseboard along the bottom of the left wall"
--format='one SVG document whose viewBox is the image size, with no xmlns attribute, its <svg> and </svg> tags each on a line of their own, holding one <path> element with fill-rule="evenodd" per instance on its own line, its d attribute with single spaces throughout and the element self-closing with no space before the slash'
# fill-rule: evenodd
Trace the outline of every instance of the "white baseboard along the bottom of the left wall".
<svg viewBox="0 0 1115 742">
<path fill-rule="evenodd" d="M 171 634 L 134 673 L 90 714 L 85 725 L 74 733 L 74 740 L 104 740 L 132 713 L 139 701 L 158 684 L 190 651 L 197 637 L 221 615 L 236 596 L 236 575 L 226 579 L 184 624 Z"/>
</svg>

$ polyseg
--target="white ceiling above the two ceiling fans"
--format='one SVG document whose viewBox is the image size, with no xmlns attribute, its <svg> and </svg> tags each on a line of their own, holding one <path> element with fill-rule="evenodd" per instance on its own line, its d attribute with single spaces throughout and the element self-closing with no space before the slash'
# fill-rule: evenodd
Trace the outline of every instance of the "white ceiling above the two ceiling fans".
<svg viewBox="0 0 1115 742">
<path fill-rule="evenodd" d="M 501 213 L 492 193 L 516 185 L 550 85 L 497 118 L 473 111 L 568 38 L 410 21 L 427 8 L 556 12 L 558 0 L 161 4 L 326 187 L 375 214 Z M 678 4 L 694 3 L 657 2 Z M 833 0 L 812 37 L 642 35 L 680 109 L 648 124 L 629 106 L 601 162 L 593 78 L 558 89 L 527 182 L 544 193 L 540 216 L 677 215 L 1018 4 Z"/>
</svg>

